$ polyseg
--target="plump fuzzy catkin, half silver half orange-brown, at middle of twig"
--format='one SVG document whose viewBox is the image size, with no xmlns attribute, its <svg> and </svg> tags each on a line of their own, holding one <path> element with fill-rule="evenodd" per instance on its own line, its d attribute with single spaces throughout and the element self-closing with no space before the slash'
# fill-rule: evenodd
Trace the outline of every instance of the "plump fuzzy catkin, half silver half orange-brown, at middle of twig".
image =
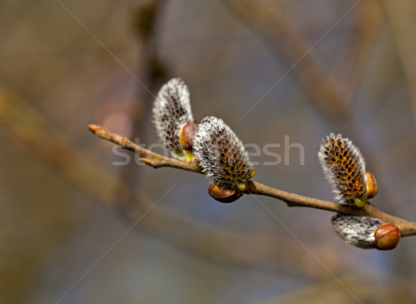
<svg viewBox="0 0 416 304">
<path fill-rule="evenodd" d="M 201 120 L 193 152 L 203 172 L 221 188 L 244 192 L 254 176 L 243 143 L 223 120 L 214 116 Z"/>
</svg>

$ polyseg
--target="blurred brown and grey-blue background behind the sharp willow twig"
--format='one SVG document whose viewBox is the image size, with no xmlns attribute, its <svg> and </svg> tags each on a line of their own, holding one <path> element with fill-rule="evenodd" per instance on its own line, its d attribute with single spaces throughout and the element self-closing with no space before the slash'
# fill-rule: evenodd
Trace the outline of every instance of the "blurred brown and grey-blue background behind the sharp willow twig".
<svg viewBox="0 0 416 304">
<path fill-rule="evenodd" d="M 0 1 L 1 303 L 415 303 L 416 238 L 363 250 L 331 213 L 123 161 L 87 129 L 149 147 L 153 95 L 180 76 L 196 120 L 261 154 L 255 180 L 333 200 L 318 163 L 351 138 L 372 203 L 416 220 L 412 0 Z M 139 220 L 139 222 L 137 222 Z"/>
</svg>

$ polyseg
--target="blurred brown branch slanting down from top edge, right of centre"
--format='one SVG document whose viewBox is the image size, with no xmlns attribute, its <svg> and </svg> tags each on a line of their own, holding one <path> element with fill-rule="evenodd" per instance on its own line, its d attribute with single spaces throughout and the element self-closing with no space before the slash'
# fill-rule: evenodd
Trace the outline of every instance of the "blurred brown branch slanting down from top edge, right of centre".
<svg viewBox="0 0 416 304">
<path fill-rule="evenodd" d="M 325 71 L 324 65 L 312 49 L 320 40 L 310 46 L 285 17 L 281 4 L 274 3 L 274 6 L 271 6 L 266 1 L 259 3 L 250 0 L 223 2 L 275 53 L 284 57 L 289 66 L 288 71 L 293 69 L 304 92 L 321 111 L 335 117 L 342 116 L 347 111 L 345 92 Z"/>
</svg>

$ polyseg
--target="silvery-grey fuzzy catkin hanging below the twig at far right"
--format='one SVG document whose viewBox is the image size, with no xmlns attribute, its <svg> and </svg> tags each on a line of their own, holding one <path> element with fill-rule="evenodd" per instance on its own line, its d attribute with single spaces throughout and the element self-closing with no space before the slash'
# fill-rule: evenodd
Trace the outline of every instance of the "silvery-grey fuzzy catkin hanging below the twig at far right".
<svg viewBox="0 0 416 304">
<path fill-rule="evenodd" d="M 375 247 L 374 231 L 383 222 L 373 217 L 338 213 L 331 218 L 331 224 L 333 230 L 348 244 L 370 249 Z"/>
</svg>

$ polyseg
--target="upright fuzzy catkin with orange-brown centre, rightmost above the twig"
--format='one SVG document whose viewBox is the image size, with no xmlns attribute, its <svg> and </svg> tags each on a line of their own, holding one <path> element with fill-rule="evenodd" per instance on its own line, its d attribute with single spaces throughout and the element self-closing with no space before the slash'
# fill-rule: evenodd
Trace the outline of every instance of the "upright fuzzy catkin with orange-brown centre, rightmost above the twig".
<svg viewBox="0 0 416 304">
<path fill-rule="evenodd" d="M 367 204 L 365 162 L 358 148 L 341 134 L 329 134 L 318 153 L 324 175 L 341 204 Z"/>
</svg>

